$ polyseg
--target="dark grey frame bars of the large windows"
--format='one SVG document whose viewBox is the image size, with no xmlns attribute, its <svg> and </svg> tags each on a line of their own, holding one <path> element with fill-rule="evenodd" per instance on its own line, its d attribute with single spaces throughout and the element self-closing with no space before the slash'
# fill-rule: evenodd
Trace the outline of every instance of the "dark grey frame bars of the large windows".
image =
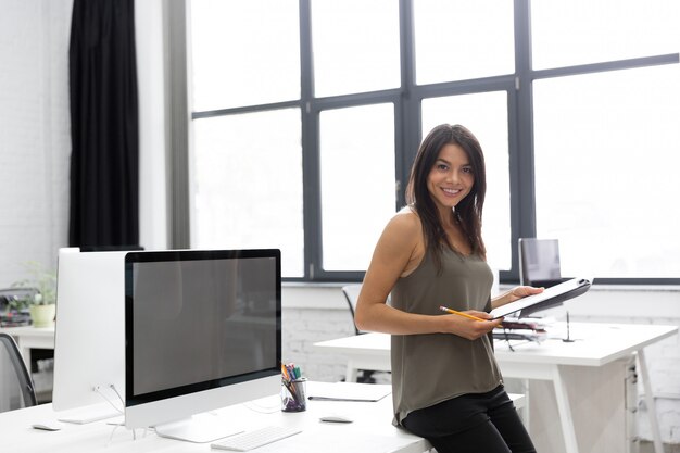
<svg viewBox="0 0 680 453">
<path fill-rule="evenodd" d="M 172 48 L 187 46 L 187 5 L 186 0 L 168 2 L 165 9 L 166 37 L 172 38 Z M 421 109 L 424 99 L 487 91 L 506 91 L 508 97 L 508 150 L 511 185 L 511 240 L 512 268 L 500 273 L 502 282 L 516 282 L 518 275 L 517 242 L 520 237 L 536 237 L 536 202 L 533 168 L 533 110 L 532 84 L 534 80 L 564 77 L 595 72 L 621 71 L 634 67 L 678 64 L 678 53 L 651 55 L 620 61 L 582 64 L 569 67 L 534 71 L 531 64 L 531 18 L 530 0 L 514 1 L 515 33 L 515 73 L 494 77 L 457 80 L 418 86 L 415 83 L 414 18 L 413 1 L 400 0 L 400 50 L 401 87 L 366 93 L 353 93 L 316 98 L 313 95 L 314 74 L 312 62 L 312 23 L 311 1 L 300 0 L 300 61 L 301 97 L 298 100 L 242 106 L 236 109 L 187 112 L 186 103 L 169 102 L 171 118 L 189 117 L 188 122 L 175 119 L 169 131 L 169 142 L 179 143 L 169 153 L 169 179 L 173 196 L 169 197 L 171 247 L 188 248 L 190 228 L 190 209 L 188 202 L 187 174 L 189 168 L 189 130 L 190 122 L 219 115 L 262 112 L 281 108 L 299 108 L 302 112 L 303 149 L 303 204 L 304 204 L 304 276 L 287 278 L 302 281 L 358 281 L 363 272 L 327 272 L 323 269 L 323 250 L 320 238 L 322 206 L 319 198 L 319 114 L 325 110 L 348 106 L 392 103 L 394 105 L 394 149 L 396 186 L 395 210 L 404 205 L 404 188 L 408 169 L 421 140 Z M 172 29 L 172 33 L 168 30 Z M 181 33 L 177 33 L 181 32 Z M 174 58 L 166 52 L 166 70 L 177 74 L 178 67 L 188 67 L 187 52 L 179 52 Z M 172 62 L 172 65 L 168 63 Z M 180 72 L 181 73 L 181 72 Z M 171 99 L 186 100 L 188 84 L 186 77 L 169 78 L 167 96 Z M 173 109 L 175 113 L 172 113 Z M 177 114 L 176 110 L 180 113 Z M 601 284 L 680 284 L 680 278 L 608 278 L 597 279 Z"/>
</svg>

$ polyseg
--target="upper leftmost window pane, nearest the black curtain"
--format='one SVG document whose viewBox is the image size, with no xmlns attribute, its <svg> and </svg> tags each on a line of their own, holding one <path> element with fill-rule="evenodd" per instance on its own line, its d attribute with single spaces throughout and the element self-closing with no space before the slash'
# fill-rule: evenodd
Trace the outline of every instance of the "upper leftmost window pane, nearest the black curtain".
<svg viewBox="0 0 680 453">
<path fill-rule="evenodd" d="M 297 0 L 193 0 L 190 7 L 193 111 L 300 98 Z"/>
</svg>

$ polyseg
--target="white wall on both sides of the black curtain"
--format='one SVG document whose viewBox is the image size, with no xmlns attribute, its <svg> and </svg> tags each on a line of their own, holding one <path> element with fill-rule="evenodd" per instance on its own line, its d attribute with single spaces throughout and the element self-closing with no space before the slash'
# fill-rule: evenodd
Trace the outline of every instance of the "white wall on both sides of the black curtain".
<svg viewBox="0 0 680 453">
<path fill-rule="evenodd" d="M 166 239 L 161 0 L 137 2 L 140 243 Z M 0 288 L 68 242 L 73 0 L 0 0 Z"/>
</svg>

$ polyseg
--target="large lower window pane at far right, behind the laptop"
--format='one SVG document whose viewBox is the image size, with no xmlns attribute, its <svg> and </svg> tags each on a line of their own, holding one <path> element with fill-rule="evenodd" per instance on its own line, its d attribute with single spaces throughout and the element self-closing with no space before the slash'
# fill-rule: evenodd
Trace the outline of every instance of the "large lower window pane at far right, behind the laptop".
<svg viewBox="0 0 680 453">
<path fill-rule="evenodd" d="M 678 80 L 665 65 L 536 83 L 537 234 L 559 239 L 565 275 L 680 275 Z"/>
</svg>

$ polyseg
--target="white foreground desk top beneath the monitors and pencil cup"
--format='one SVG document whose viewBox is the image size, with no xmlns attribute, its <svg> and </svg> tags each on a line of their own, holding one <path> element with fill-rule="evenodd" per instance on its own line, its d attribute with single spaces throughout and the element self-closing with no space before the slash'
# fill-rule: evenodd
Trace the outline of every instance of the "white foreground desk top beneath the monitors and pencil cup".
<svg viewBox="0 0 680 453">
<path fill-rule="evenodd" d="M 313 386 L 314 382 L 310 382 Z M 244 429 L 266 425 L 295 426 L 302 432 L 257 449 L 257 453 L 348 453 L 393 452 L 421 453 L 431 446 L 420 437 L 395 428 L 392 421 L 392 400 L 388 394 L 378 402 L 307 401 L 301 413 L 282 413 L 279 395 L 229 406 L 211 413 L 225 423 Z M 330 424 L 319 421 L 323 415 L 342 413 L 354 421 Z M 212 416 L 209 415 L 209 416 Z M 180 453 L 216 452 L 210 443 L 190 443 L 161 438 L 149 430 L 146 436 L 137 429 L 137 440 L 124 427 L 106 421 L 88 425 L 63 424 L 60 431 L 30 428 L 40 420 L 56 418 L 51 404 L 0 414 L 1 450 L 13 453 Z"/>
</svg>

